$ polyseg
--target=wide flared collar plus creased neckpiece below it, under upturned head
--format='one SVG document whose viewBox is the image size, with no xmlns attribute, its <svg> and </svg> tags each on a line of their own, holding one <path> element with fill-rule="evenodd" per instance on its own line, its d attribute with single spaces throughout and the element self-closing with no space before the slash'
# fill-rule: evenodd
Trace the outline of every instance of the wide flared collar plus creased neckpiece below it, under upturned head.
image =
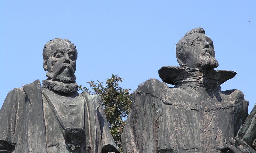
<svg viewBox="0 0 256 153">
<path fill-rule="evenodd" d="M 175 85 L 188 93 L 212 95 L 220 92 L 220 84 L 236 75 L 234 71 L 214 69 L 192 69 L 180 66 L 164 66 L 158 71 L 167 84 Z"/>
</svg>

